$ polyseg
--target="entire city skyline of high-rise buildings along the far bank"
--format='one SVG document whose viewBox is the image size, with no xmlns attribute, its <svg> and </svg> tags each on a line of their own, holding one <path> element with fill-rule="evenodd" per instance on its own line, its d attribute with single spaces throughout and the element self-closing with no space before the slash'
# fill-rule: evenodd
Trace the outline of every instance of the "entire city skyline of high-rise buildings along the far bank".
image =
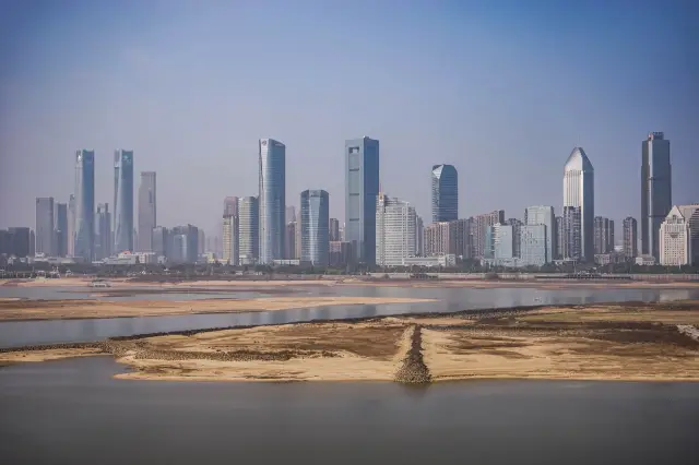
<svg viewBox="0 0 699 465">
<path fill-rule="evenodd" d="M 75 154 L 75 190 L 68 203 L 36 199 L 36 227 L 0 230 L 0 253 L 120 263 L 188 263 L 221 260 L 230 265 L 344 267 L 351 264 L 453 266 L 473 260 L 493 266 L 549 263 L 636 262 L 699 264 L 699 204 L 672 204 L 670 141 L 652 132 L 641 151 L 641 215 L 623 220 L 616 243 L 614 219 L 595 216 L 594 168 L 582 147 L 564 165 L 562 207 L 533 205 L 521 218 L 505 211 L 459 218 L 459 176 L 452 165 L 431 168 L 431 223 L 407 201 L 381 189 L 379 141 L 345 141 L 345 222 L 330 217 L 330 194 L 308 189 L 299 208 L 286 199 L 286 146 L 258 145 L 257 195 L 224 199 L 222 247 L 204 247 L 193 225 L 167 228 L 156 222 L 156 176 L 141 172 L 134 225 L 133 152 L 114 157 L 114 202 L 95 208 L 95 154 Z M 205 250 L 210 252 L 204 253 Z"/>
</svg>

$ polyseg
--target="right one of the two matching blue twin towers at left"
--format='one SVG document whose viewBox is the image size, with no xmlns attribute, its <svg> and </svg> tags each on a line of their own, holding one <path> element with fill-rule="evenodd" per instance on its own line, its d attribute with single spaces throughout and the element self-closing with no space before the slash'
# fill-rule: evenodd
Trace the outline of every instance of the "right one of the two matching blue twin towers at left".
<svg viewBox="0 0 699 465">
<path fill-rule="evenodd" d="M 114 153 L 114 252 L 133 249 L 133 151 Z"/>
</svg>

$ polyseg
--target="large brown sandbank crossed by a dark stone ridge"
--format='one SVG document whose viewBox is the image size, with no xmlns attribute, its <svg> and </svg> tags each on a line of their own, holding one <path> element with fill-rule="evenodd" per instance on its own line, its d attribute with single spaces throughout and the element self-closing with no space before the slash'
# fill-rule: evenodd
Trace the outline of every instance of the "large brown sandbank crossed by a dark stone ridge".
<svg viewBox="0 0 699 465">
<path fill-rule="evenodd" d="M 102 353 L 149 380 L 699 381 L 698 325 L 699 301 L 541 307 L 116 337 L 0 362 Z"/>
</svg>

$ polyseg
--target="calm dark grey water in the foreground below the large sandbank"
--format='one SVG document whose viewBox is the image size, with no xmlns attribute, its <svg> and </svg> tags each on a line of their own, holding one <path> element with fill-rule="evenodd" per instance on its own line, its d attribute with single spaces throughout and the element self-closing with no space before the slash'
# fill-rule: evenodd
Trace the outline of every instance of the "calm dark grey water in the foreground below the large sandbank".
<svg viewBox="0 0 699 465">
<path fill-rule="evenodd" d="M 3 464 L 696 464 L 699 384 L 114 380 L 0 369 Z"/>
</svg>

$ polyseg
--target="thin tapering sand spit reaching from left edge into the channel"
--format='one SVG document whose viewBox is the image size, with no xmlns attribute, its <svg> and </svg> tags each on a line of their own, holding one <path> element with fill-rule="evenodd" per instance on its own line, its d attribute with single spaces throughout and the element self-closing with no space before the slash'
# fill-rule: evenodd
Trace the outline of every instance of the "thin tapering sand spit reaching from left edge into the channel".
<svg viewBox="0 0 699 465">
<path fill-rule="evenodd" d="M 263 297 L 198 300 L 8 300 L 0 301 L 0 321 L 85 318 L 163 317 L 194 313 L 235 313 L 323 306 L 422 303 L 431 299 L 399 297 Z"/>
</svg>

